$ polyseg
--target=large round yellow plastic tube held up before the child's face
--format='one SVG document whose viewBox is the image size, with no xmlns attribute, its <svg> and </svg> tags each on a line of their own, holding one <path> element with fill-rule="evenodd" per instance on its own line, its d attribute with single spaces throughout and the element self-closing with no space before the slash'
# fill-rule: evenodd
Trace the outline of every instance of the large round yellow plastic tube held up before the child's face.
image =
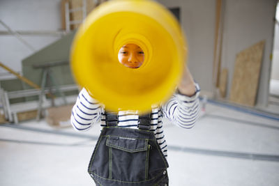
<svg viewBox="0 0 279 186">
<path fill-rule="evenodd" d="M 131 69 L 118 61 L 119 49 L 133 43 L 144 63 Z M 71 67 L 106 109 L 149 111 L 174 92 L 186 62 L 187 47 L 176 18 L 149 0 L 114 0 L 98 6 L 77 31 Z"/>
</svg>

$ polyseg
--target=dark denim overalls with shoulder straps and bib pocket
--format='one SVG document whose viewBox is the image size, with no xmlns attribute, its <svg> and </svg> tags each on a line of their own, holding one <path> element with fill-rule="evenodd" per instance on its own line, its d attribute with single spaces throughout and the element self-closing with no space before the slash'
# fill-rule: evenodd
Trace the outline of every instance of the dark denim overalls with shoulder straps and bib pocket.
<svg viewBox="0 0 279 186">
<path fill-rule="evenodd" d="M 151 114 L 139 116 L 138 128 L 117 127 L 107 112 L 88 172 L 97 186 L 167 186 L 167 160 L 150 130 Z"/>
</svg>

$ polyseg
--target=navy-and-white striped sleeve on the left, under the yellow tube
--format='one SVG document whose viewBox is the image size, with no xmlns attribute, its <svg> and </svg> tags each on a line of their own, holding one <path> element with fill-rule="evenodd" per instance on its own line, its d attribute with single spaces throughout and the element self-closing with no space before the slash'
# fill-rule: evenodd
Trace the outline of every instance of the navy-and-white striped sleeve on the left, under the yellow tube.
<svg viewBox="0 0 279 186">
<path fill-rule="evenodd" d="M 94 100 L 85 88 L 82 88 L 73 106 L 70 123 L 77 131 L 89 130 L 93 123 L 100 121 L 101 111 L 102 107 L 98 101 Z"/>
</svg>

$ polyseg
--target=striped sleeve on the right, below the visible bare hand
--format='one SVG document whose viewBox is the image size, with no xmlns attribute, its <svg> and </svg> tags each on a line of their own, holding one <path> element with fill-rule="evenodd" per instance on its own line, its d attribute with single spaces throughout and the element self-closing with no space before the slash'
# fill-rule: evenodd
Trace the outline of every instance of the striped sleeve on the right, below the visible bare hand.
<svg viewBox="0 0 279 186">
<path fill-rule="evenodd" d="M 200 88 L 198 84 L 195 84 L 195 87 L 196 91 L 193 96 L 188 97 L 181 93 L 174 93 L 172 98 L 162 107 L 163 115 L 179 127 L 190 129 L 197 121 Z"/>
</svg>

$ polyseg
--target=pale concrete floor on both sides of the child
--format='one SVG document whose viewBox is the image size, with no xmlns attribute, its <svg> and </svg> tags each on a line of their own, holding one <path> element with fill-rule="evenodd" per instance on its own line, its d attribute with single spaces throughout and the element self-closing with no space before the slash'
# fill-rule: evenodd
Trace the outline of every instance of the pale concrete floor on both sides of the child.
<svg viewBox="0 0 279 186">
<path fill-rule="evenodd" d="M 86 169 L 100 127 L 0 125 L 0 185 L 94 185 Z M 216 104 L 191 130 L 165 124 L 169 185 L 279 185 L 279 121 Z"/>
</svg>

